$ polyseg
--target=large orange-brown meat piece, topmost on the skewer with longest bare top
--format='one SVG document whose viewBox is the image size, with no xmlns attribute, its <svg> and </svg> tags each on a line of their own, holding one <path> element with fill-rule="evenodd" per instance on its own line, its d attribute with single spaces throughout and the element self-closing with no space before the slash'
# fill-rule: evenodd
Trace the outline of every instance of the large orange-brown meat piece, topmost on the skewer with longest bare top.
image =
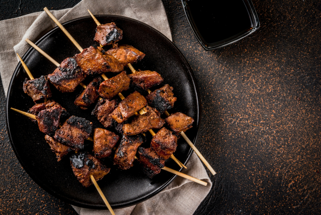
<svg viewBox="0 0 321 215">
<path fill-rule="evenodd" d="M 75 55 L 74 58 L 87 75 L 107 72 L 119 73 L 124 70 L 118 60 L 105 53 L 101 47 L 85 48 L 82 53 Z"/>
</svg>

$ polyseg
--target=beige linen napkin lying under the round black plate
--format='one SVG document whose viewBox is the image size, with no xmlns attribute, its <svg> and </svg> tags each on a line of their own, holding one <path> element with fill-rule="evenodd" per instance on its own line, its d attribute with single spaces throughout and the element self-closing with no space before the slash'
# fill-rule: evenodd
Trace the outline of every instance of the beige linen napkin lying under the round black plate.
<svg viewBox="0 0 321 215">
<path fill-rule="evenodd" d="M 48 8 L 50 8 L 50 5 L 48 5 Z M 167 16 L 160 0 L 83 0 L 73 8 L 51 11 L 51 13 L 60 22 L 65 22 L 89 15 L 87 9 L 93 14 L 114 14 L 142 21 L 159 30 L 170 40 L 172 39 Z M 45 12 L 31 13 L 18 18 L 0 21 L 0 38 L 5 38 L 0 42 L 0 74 L 5 93 L 7 93 L 12 74 L 19 62 L 16 53 L 22 56 L 30 47 L 25 42 L 25 39 L 28 38 L 35 42 L 53 27 L 56 27 L 56 24 Z M 195 153 L 193 153 L 187 164 L 187 169 L 184 169 L 183 173 L 204 180 L 208 185 L 205 187 L 182 177 L 177 177 L 159 194 L 137 205 L 115 210 L 116 214 L 193 214 L 209 193 L 212 183 Z M 108 210 L 73 207 L 81 215 L 110 214 Z"/>
</svg>

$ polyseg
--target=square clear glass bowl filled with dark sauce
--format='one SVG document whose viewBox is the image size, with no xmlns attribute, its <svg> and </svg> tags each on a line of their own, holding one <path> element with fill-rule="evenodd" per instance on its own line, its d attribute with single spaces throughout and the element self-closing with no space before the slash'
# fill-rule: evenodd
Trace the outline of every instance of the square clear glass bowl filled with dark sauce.
<svg viewBox="0 0 321 215">
<path fill-rule="evenodd" d="M 182 4 L 196 39 L 207 51 L 234 43 L 260 26 L 251 0 L 182 0 Z"/>
</svg>

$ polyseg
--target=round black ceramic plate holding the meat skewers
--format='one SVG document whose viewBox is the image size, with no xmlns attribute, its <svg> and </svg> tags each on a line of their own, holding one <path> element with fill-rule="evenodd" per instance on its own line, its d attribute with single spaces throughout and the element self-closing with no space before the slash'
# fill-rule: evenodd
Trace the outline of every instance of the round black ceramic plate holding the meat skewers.
<svg viewBox="0 0 321 215">
<path fill-rule="evenodd" d="M 132 45 L 146 54 L 142 62 L 133 65 L 136 70 L 157 71 L 164 78 L 162 84 L 168 83 L 174 88 L 173 92 L 177 101 L 169 113 L 179 111 L 195 119 L 193 128 L 187 131 L 187 136 L 195 144 L 200 124 L 200 99 L 192 70 L 178 48 L 159 31 L 142 22 L 121 16 L 97 15 L 96 17 L 100 23 L 115 22 L 123 30 L 124 37 L 119 44 Z M 97 45 L 93 41 L 96 24 L 91 17 L 82 17 L 63 25 L 82 48 Z M 58 27 L 45 34 L 36 42 L 36 45 L 57 62 L 79 53 Z M 22 59 L 35 78 L 52 73 L 56 68 L 33 48 L 30 48 Z M 126 70 L 130 73 L 128 68 Z M 106 75 L 110 78 L 115 74 Z M 26 116 L 10 110 L 13 107 L 27 111 L 34 105 L 32 99 L 22 90 L 23 81 L 27 77 L 28 75 L 19 63 L 10 82 L 6 103 L 9 137 L 22 167 L 40 187 L 59 199 L 80 207 L 106 209 L 94 186 L 85 188 L 78 182 L 67 157 L 57 162 L 55 154 L 50 150 L 44 139 L 45 135 L 39 131 L 38 125 L 32 123 Z M 84 83 L 89 81 L 90 78 L 87 78 Z M 82 110 L 74 105 L 75 98 L 82 91 L 81 86 L 78 86 L 72 93 L 61 93 L 52 85 L 50 89 L 53 92 L 52 99 L 60 103 L 69 113 L 90 120 L 94 128 L 103 127 L 97 118 L 91 116 L 94 105 L 88 110 Z M 129 93 L 130 91 L 123 94 L 126 96 Z M 88 144 L 92 143 L 88 142 Z M 180 138 L 175 156 L 181 162 L 187 163 L 191 153 L 191 148 L 183 138 Z M 116 169 L 108 159 L 105 162 L 111 167 L 111 171 L 98 184 L 110 205 L 115 209 L 137 204 L 152 197 L 175 178 L 175 175 L 162 170 L 159 175 L 149 179 L 143 175 L 137 161 L 134 167 L 128 170 Z M 165 164 L 170 168 L 180 170 L 171 159 Z"/>
</svg>

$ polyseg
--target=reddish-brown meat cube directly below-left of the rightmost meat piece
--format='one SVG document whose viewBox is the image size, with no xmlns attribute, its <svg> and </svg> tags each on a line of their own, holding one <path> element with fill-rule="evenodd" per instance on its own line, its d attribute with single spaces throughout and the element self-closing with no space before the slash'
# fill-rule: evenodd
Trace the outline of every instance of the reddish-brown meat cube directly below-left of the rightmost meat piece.
<svg viewBox="0 0 321 215">
<path fill-rule="evenodd" d="M 176 151 L 177 137 L 166 128 L 160 129 L 151 142 L 151 148 L 158 156 L 167 160 Z"/>
</svg>

